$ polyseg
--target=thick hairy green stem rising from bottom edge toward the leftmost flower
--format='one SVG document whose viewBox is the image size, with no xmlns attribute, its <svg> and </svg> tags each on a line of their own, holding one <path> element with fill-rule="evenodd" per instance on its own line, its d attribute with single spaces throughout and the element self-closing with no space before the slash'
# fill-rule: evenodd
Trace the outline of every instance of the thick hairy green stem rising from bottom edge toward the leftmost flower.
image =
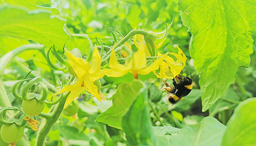
<svg viewBox="0 0 256 146">
<path fill-rule="evenodd" d="M 58 118 L 60 117 L 60 114 L 63 110 L 64 104 L 66 102 L 66 99 L 68 97 L 68 94 L 64 95 L 63 98 L 60 100 L 60 102 L 55 106 L 54 110 L 50 113 L 49 116 L 45 116 L 46 118 L 41 123 L 38 131 L 38 135 L 36 138 L 36 146 L 44 146 L 45 139 L 52 129 L 52 126 L 56 123 Z"/>
</svg>

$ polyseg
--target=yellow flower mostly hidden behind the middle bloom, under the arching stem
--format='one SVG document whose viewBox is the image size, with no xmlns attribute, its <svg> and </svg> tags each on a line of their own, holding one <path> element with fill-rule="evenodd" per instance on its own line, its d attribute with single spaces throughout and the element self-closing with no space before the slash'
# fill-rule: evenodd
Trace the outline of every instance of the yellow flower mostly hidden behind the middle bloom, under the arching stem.
<svg viewBox="0 0 256 146">
<path fill-rule="evenodd" d="M 139 29 L 140 30 L 140 29 Z M 145 52 L 146 52 L 146 55 L 147 55 L 147 57 L 149 57 L 149 56 L 151 56 L 150 55 L 150 53 L 149 53 L 149 51 L 148 51 L 148 48 L 147 48 L 147 45 L 146 45 L 146 43 L 145 43 L 145 40 L 144 40 L 144 36 L 143 35 L 135 35 L 135 36 L 133 36 L 133 43 L 134 43 L 134 45 L 136 46 L 136 47 L 138 47 L 139 48 L 139 46 L 140 46 L 140 44 L 137 42 L 137 36 L 138 36 L 138 42 L 144 42 L 144 50 L 145 50 Z M 166 39 L 166 38 L 165 38 Z M 165 40 L 164 39 L 164 40 Z M 156 42 L 153 42 L 154 43 L 154 46 L 155 46 L 155 52 L 156 52 L 156 49 L 158 49 L 158 48 L 160 48 L 161 46 L 162 46 L 162 44 L 164 43 L 164 40 L 162 41 L 162 42 L 160 42 L 159 44 L 156 44 Z M 149 44 L 148 44 L 149 45 Z M 150 45 L 149 45 L 150 46 Z M 151 51 L 152 51 L 152 49 L 151 49 Z"/>
</svg>

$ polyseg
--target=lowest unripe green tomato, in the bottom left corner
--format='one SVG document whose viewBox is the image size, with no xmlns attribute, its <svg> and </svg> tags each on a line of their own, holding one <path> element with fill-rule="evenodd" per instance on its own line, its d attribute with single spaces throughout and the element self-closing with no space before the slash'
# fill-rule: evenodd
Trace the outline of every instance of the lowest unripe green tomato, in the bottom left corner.
<svg viewBox="0 0 256 146">
<path fill-rule="evenodd" d="M 1 127 L 1 138 L 6 143 L 19 142 L 24 133 L 24 127 L 20 127 L 15 123 L 3 125 Z"/>
</svg>

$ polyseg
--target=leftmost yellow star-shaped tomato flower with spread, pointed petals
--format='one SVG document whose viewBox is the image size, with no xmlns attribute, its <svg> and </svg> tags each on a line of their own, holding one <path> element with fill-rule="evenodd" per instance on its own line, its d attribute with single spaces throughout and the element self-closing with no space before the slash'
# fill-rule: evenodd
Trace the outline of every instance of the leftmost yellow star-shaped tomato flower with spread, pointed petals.
<svg viewBox="0 0 256 146">
<path fill-rule="evenodd" d="M 101 58 L 96 45 L 93 51 L 93 58 L 91 63 L 82 58 L 76 58 L 68 50 L 65 50 L 65 52 L 68 57 L 68 63 L 76 74 L 77 80 L 73 85 L 68 85 L 67 87 L 64 87 L 54 94 L 58 95 L 60 93 L 70 91 L 64 108 L 66 108 L 68 104 L 72 103 L 72 101 L 84 90 L 91 93 L 100 102 L 105 100 L 104 96 L 100 95 L 100 92 L 98 92 L 98 87 L 93 84 L 93 82 L 95 82 L 97 79 L 100 79 L 104 76 L 103 70 L 100 69 Z"/>
</svg>

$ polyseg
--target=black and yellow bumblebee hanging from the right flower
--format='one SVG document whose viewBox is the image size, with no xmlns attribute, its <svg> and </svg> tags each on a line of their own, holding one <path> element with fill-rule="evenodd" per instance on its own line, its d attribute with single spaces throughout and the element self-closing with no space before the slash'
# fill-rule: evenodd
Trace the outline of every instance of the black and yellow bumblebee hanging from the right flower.
<svg viewBox="0 0 256 146">
<path fill-rule="evenodd" d="M 177 83 L 175 79 L 177 80 Z M 166 88 L 164 88 L 163 90 L 167 91 L 168 101 L 172 103 L 172 105 L 178 103 L 180 100 L 183 99 L 184 96 L 187 96 L 193 88 L 192 77 L 189 78 L 189 77 L 182 76 L 182 78 L 180 78 L 176 76 L 175 79 L 174 78 L 172 79 L 174 87 L 170 87 L 168 83 L 162 81 L 165 83 L 165 86 L 166 86 Z"/>
</svg>

